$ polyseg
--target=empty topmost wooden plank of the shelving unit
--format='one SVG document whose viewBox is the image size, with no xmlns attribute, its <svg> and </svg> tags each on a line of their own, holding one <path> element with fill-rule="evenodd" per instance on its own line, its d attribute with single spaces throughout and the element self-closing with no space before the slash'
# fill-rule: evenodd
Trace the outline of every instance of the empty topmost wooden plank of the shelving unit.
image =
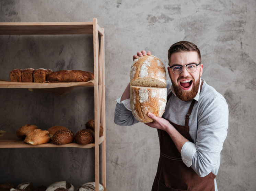
<svg viewBox="0 0 256 191">
<path fill-rule="evenodd" d="M 93 22 L 0 23 L 0 35 L 89 35 Z"/>
</svg>

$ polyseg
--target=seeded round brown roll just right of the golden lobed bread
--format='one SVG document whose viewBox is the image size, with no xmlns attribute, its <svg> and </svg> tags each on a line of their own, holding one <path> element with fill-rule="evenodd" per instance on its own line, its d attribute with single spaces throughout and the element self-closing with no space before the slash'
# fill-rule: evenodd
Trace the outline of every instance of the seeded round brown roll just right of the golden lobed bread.
<svg viewBox="0 0 256 191">
<path fill-rule="evenodd" d="M 56 131 L 52 137 L 52 142 L 55 145 L 69 144 L 74 141 L 74 134 L 68 129 L 61 129 Z"/>
</svg>

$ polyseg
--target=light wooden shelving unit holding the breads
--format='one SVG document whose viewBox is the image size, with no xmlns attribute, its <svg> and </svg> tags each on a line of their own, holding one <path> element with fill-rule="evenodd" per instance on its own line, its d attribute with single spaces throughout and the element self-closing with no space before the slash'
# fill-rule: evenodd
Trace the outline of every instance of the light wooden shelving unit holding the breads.
<svg viewBox="0 0 256 191">
<path fill-rule="evenodd" d="M 97 19 L 93 22 L 47 22 L 47 23 L 0 23 L 0 35 L 93 35 L 94 52 L 94 80 L 89 82 L 72 83 L 23 83 L 8 82 L 0 79 L 0 88 L 27 88 L 30 91 L 44 91 L 64 95 L 75 87 L 94 87 L 94 120 L 95 142 L 88 145 L 71 143 L 54 145 L 52 143 L 33 146 L 16 138 L 16 134 L 0 134 L 0 148 L 27 148 L 27 147 L 80 147 L 95 148 L 95 185 L 99 191 L 100 183 L 100 144 L 102 144 L 102 185 L 106 190 L 106 122 L 105 122 L 105 45 L 104 28 L 101 28 Z M 100 38 L 99 38 L 100 36 Z M 100 123 L 104 128 L 100 134 Z"/>
</svg>

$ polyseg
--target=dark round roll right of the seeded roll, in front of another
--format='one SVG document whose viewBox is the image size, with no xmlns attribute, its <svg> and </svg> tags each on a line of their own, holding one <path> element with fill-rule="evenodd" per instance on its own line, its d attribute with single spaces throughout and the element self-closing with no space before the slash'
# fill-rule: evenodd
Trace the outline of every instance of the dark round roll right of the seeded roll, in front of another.
<svg viewBox="0 0 256 191">
<path fill-rule="evenodd" d="M 75 134 L 75 142 L 86 145 L 94 141 L 94 131 L 92 129 L 81 129 Z"/>
</svg>

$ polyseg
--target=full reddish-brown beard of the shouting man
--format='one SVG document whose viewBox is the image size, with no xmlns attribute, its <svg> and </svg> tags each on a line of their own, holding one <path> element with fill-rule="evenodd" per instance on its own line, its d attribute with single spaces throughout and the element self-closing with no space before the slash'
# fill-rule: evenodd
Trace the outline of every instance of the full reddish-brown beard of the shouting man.
<svg viewBox="0 0 256 191">
<path fill-rule="evenodd" d="M 183 79 L 185 79 L 185 78 L 183 78 L 183 77 L 179 78 L 178 81 L 183 80 Z M 186 90 L 182 90 L 182 88 L 179 87 L 179 84 L 177 85 L 171 79 L 174 92 L 175 92 L 176 96 L 179 99 L 181 99 L 182 101 L 190 101 L 190 100 L 192 100 L 196 97 L 197 92 L 198 92 L 198 88 L 199 88 L 199 84 L 200 84 L 200 73 L 199 73 L 199 77 L 198 77 L 197 81 L 195 81 L 194 78 L 190 79 L 190 80 L 193 81 L 193 87 L 192 87 L 191 90 L 186 91 Z"/>
</svg>

